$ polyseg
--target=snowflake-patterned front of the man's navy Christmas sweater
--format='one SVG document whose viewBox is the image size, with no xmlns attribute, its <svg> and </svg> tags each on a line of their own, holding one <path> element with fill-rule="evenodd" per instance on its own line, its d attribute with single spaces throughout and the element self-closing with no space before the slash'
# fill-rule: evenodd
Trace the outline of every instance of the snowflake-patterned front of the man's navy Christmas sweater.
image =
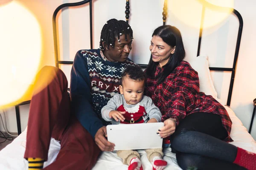
<svg viewBox="0 0 256 170">
<path fill-rule="evenodd" d="M 115 94 L 119 94 L 119 80 L 127 65 L 136 65 L 131 59 L 125 62 L 105 61 L 100 50 L 81 50 L 79 51 L 87 60 L 87 69 L 91 82 L 92 105 L 94 111 L 102 119 L 101 109 L 107 105 L 109 99 Z M 108 122 L 102 119 L 105 125 Z"/>
</svg>

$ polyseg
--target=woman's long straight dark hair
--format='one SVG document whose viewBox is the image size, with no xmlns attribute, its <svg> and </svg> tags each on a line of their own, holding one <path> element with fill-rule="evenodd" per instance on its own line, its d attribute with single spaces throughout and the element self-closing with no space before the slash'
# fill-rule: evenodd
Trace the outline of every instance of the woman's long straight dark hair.
<svg viewBox="0 0 256 170">
<path fill-rule="evenodd" d="M 180 31 L 174 26 L 160 26 L 156 28 L 152 34 L 153 36 L 158 36 L 162 38 L 162 40 L 170 45 L 172 48 L 175 46 L 174 54 L 170 54 L 169 60 L 166 65 L 164 65 L 163 72 L 157 75 L 158 84 L 164 81 L 164 79 L 172 73 L 172 71 L 178 66 L 178 64 L 185 58 L 185 50 L 182 41 L 182 37 Z M 154 73 L 156 71 L 158 62 L 154 62 L 152 60 L 152 54 L 150 60 L 148 62 L 148 67 L 146 69 L 146 76 L 147 77 L 154 77 Z"/>
</svg>

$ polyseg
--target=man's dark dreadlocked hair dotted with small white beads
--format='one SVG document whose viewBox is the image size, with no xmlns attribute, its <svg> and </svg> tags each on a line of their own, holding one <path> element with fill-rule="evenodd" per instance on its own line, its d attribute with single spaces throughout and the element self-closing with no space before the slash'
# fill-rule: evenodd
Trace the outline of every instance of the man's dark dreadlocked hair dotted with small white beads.
<svg viewBox="0 0 256 170">
<path fill-rule="evenodd" d="M 99 48 L 101 50 L 104 50 L 105 48 L 109 48 L 110 45 L 114 48 L 116 37 L 117 40 L 120 41 L 119 39 L 122 34 L 125 34 L 126 41 L 127 35 L 129 35 L 130 38 L 133 39 L 133 31 L 128 23 L 123 20 L 116 20 L 114 18 L 108 20 L 101 31 Z M 103 42 L 105 46 L 103 46 Z"/>
</svg>

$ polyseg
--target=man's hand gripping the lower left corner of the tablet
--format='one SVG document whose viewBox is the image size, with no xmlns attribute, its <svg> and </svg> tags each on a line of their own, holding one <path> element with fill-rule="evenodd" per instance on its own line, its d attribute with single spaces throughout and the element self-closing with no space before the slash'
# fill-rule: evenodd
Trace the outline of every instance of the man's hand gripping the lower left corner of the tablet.
<svg viewBox="0 0 256 170">
<path fill-rule="evenodd" d="M 108 142 L 106 137 L 108 137 L 107 128 L 102 126 L 95 134 L 95 142 L 99 146 L 100 150 L 112 152 L 114 150 L 115 144 Z"/>
</svg>

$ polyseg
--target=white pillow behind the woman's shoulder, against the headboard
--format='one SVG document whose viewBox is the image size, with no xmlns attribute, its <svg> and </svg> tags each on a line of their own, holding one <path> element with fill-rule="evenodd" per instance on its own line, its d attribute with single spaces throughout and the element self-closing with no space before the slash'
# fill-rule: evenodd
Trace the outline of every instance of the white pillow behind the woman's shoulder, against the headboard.
<svg viewBox="0 0 256 170">
<path fill-rule="evenodd" d="M 200 83 L 200 91 L 204 92 L 207 95 L 211 95 L 216 100 L 217 91 L 214 88 L 212 77 L 209 70 L 209 62 L 207 56 L 198 56 L 186 59 L 187 62 L 191 65 L 191 67 L 198 72 L 199 83 Z"/>
</svg>

